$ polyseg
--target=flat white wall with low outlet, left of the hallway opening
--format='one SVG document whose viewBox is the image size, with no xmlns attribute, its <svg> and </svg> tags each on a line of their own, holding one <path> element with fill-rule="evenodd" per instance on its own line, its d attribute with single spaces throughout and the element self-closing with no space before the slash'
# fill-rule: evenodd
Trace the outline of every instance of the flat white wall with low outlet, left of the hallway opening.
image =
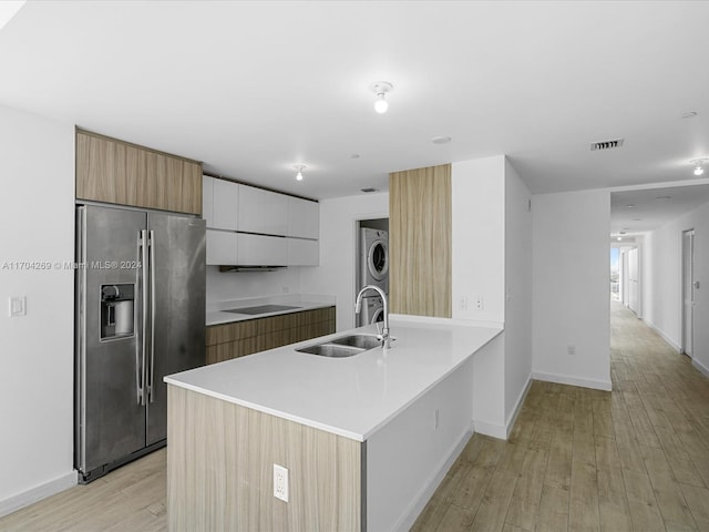
<svg viewBox="0 0 709 532">
<path fill-rule="evenodd" d="M 534 195 L 532 219 L 534 376 L 609 390 L 609 192 Z"/>
</svg>

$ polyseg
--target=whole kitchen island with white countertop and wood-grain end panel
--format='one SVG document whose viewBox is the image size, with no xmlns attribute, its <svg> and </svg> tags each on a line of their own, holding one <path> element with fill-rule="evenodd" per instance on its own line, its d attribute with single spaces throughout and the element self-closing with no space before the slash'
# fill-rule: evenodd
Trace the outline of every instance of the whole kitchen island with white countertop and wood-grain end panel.
<svg viewBox="0 0 709 532">
<path fill-rule="evenodd" d="M 502 329 L 391 330 L 389 350 L 296 351 L 369 326 L 166 377 L 171 530 L 408 529 L 472 433 L 474 355 Z"/>
</svg>

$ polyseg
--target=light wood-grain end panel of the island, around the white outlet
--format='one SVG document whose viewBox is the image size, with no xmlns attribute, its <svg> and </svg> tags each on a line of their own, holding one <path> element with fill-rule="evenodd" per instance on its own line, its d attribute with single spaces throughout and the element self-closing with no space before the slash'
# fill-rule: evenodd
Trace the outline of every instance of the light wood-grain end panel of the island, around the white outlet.
<svg viewBox="0 0 709 532">
<path fill-rule="evenodd" d="M 171 385 L 167 416 L 172 532 L 361 530 L 361 442 Z"/>
</svg>

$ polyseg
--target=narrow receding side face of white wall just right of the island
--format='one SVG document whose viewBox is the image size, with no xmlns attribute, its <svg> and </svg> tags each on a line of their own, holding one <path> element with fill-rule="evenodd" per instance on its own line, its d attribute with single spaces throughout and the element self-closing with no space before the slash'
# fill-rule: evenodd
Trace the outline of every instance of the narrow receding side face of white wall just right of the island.
<svg viewBox="0 0 709 532">
<path fill-rule="evenodd" d="M 505 163 L 505 424 L 532 377 L 532 194 Z"/>
</svg>

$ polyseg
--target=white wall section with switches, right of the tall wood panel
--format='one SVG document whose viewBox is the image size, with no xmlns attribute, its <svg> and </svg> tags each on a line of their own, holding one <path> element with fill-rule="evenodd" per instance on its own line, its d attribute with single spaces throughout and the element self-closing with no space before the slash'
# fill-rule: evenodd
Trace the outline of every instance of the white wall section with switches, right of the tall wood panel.
<svg viewBox="0 0 709 532">
<path fill-rule="evenodd" d="M 452 165 L 454 319 L 505 319 L 505 157 Z M 475 300 L 482 298 L 483 308 Z"/>
</svg>

